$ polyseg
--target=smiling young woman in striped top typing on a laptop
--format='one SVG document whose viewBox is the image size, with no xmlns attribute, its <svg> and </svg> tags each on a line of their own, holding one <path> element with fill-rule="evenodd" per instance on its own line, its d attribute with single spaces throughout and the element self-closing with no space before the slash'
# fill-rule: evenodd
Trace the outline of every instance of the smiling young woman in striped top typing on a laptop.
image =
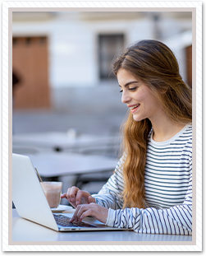
<svg viewBox="0 0 206 256">
<path fill-rule="evenodd" d="M 76 207 L 71 221 L 94 216 L 140 233 L 192 234 L 192 93 L 172 51 L 142 40 L 113 63 L 129 108 L 122 156 L 98 194 L 62 194 Z"/>
</svg>

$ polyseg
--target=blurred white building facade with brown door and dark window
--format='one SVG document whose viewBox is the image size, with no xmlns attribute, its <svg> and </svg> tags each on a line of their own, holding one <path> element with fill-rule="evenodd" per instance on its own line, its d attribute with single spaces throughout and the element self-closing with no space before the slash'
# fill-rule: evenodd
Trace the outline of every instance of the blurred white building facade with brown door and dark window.
<svg viewBox="0 0 206 256">
<path fill-rule="evenodd" d="M 118 86 L 108 86 L 117 84 L 110 65 L 143 39 L 167 44 L 192 86 L 192 12 L 13 12 L 12 19 L 12 66 L 22 78 L 15 109 L 121 108 Z"/>
</svg>

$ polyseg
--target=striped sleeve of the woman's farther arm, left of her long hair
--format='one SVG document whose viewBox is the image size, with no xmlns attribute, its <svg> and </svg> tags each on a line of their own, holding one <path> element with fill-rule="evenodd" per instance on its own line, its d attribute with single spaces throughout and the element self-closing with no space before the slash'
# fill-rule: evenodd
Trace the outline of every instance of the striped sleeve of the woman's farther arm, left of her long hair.
<svg viewBox="0 0 206 256">
<path fill-rule="evenodd" d="M 108 182 L 103 185 L 103 188 L 98 194 L 92 195 L 96 199 L 96 203 L 102 207 L 111 209 L 120 209 L 123 207 L 121 192 L 124 187 L 121 175 L 121 163 L 118 161 L 114 174 L 108 179 Z"/>
</svg>

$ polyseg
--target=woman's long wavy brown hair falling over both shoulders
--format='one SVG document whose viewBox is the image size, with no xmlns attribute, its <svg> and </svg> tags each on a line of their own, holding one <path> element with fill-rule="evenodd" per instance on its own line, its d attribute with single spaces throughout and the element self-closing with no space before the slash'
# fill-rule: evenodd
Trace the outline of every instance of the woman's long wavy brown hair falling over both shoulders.
<svg viewBox="0 0 206 256">
<path fill-rule="evenodd" d="M 192 91 L 182 81 L 176 57 L 167 45 L 157 40 L 141 40 L 132 44 L 112 63 L 116 77 L 120 68 L 149 86 L 174 123 L 191 122 Z M 136 122 L 131 113 L 122 126 L 124 207 L 144 208 L 144 168 L 151 128 L 149 119 Z"/>
</svg>

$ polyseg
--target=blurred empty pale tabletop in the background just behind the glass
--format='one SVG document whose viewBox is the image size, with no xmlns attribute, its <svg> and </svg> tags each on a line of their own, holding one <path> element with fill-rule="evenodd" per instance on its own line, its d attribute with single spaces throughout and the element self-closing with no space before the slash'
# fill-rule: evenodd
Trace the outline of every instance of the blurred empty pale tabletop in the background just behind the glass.
<svg viewBox="0 0 206 256">
<path fill-rule="evenodd" d="M 99 173 L 114 170 L 117 165 L 115 158 L 70 152 L 41 152 L 28 156 L 39 175 L 46 178 Z"/>
</svg>

